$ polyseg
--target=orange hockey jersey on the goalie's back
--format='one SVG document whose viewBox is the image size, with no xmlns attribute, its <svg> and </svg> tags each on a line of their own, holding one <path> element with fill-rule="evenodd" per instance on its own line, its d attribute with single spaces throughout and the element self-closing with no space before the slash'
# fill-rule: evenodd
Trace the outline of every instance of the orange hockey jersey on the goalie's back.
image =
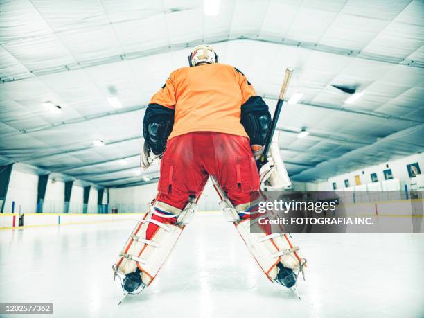
<svg viewBox="0 0 424 318">
<path fill-rule="evenodd" d="M 175 109 L 168 140 L 188 132 L 247 136 L 240 123 L 241 106 L 255 95 L 238 69 L 227 64 L 203 64 L 173 71 L 150 104 Z"/>
</svg>

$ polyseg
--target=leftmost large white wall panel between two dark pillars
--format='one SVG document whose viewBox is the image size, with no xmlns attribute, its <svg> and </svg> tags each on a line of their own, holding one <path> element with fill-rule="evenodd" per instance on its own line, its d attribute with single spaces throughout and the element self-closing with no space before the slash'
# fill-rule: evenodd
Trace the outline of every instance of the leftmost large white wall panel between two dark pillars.
<svg viewBox="0 0 424 318">
<path fill-rule="evenodd" d="M 12 170 L 4 213 L 12 213 L 12 201 L 15 201 L 15 213 L 35 213 L 37 211 L 38 176 Z"/>
</svg>

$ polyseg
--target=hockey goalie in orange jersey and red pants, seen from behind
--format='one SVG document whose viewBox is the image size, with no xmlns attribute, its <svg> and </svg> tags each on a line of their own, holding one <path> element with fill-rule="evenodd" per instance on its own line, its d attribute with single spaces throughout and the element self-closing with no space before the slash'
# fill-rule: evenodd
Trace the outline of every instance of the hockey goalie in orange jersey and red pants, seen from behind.
<svg viewBox="0 0 424 318">
<path fill-rule="evenodd" d="M 261 182 L 290 185 L 274 143 L 260 166 L 271 116 L 246 76 L 218 63 L 211 46 L 188 56 L 189 67 L 170 73 L 143 119 L 141 168 L 160 161 L 157 196 L 136 225 L 116 263 L 125 293 L 150 285 L 164 265 L 211 177 L 224 216 L 233 224 L 270 281 L 294 288 L 305 260 L 288 233 L 251 233 Z M 258 169 L 260 167 L 260 169 Z"/>
</svg>

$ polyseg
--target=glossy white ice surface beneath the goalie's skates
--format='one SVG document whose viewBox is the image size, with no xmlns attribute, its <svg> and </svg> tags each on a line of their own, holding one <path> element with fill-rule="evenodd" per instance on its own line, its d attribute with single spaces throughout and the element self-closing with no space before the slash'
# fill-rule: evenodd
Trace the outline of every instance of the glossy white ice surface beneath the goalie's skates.
<svg viewBox="0 0 424 318">
<path fill-rule="evenodd" d="M 220 213 L 202 212 L 156 281 L 118 306 L 112 263 L 135 223 L 0 231 L 0 302 L 78 318 L 424 317 L 423 234 L 294 234 L 308 259 L 299 300 L 267 281 Z"/>
</svg>

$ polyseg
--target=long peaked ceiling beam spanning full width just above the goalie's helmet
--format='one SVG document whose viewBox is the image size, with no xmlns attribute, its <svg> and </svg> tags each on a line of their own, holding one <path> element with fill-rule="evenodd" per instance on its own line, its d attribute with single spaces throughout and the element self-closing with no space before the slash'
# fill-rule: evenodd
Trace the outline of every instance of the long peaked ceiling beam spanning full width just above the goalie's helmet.
<svg viewBox="0 0 424 318">
<path fill-rule="evenodd" d="M 113 23 L 112 23 L 113 25 Z M 300 48 L 305 48 L 311 51 L 319 51 L 319 52 L 325 52 L 325 53 L 331 53 L 335 55 L 342 55 L 342 56 L 351 56 L 355 58 L 360 58 L 362 60 L 373 60 L 378 62 L 386 62 L 389 64 L 403 64 L 407 67 L 415 67 L 415 68 L 423 68 L 420 64 L 415 63 L 412 60 L 408 59 L 402 59 L 402 58 L 394 58 L 387 55 L 379 55 L 379 54 L 370 54 L 367 53 L 364 55 L 359 50 L 352 50 L 350 48 L 338 48 L 335 46 L 328 46 L 324 44 L 318 44 L 314 42 L 302 42 L 298 41 L 296 39 L 263 39 L 260 38 L 260 34 L 250 36 L 250 35 L 224 35 L 222 37 L 205 37 L 203 39 L 196 39 L 190 42 L 181 42 L 178 44 L 172 44 L 172 45 L 165 45 L 165 46 L 159 46 L 157 48 L 150 48 L 148 50 L 144 51 L 132 51 L 123 53 L 121 55 L 111 55 L 107 56 L 105 58 L 94 58 L 91 60 L 85 60 L 85 61 L 76 61 L 73 63 L 69 63 L 66 65 L 61 65 L 60 67 L 46 67 L 42 70 L 30 70 L 33 71 L 33 73 L 28 74 L 26 76 L 21 76 L 21 78 L 7 78 L 5 77 L 3 79 L 3 82 L 8 81 L 17 81 L 17 80 L 24 80 L 26 78 L 35 76 L 44 76 L 44 75 L 51 75 L 55 73 L 62 73 L 66 71 L 72 71 L 75 69 L 85 69 L 87 67 L 96 67 L 103 64 L 110 64 L 114 62 L 120 62 L 121 60 L 134 60 L 137 58 L 144 58 L 151 55 L 157 55 L 161 53 L 167 53 L 167 52 L 173 52 L 173 51 L 179 51 L 184 48 L 188 48 L 190 46 L 196 46 L 198 44 L 218 44 L 218 43 L 224 43 L 224 42 L 231 42 L 231 41 L 238 41 L 238 40 L 249 40 L 254 42 L 264 42 L 264 43 L 271 43 L 271 44 L 278 44 L 283 46 L 296 46 Z"/>
</svg>

